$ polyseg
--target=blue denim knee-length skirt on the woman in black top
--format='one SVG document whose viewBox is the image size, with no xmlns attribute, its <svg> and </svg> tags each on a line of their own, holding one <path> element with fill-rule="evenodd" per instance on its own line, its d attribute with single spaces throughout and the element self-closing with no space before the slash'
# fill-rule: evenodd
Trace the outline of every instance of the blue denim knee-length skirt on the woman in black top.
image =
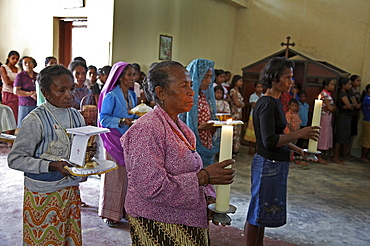
<svg viewBox="0 0 370 246">
<path fill-rule="evenodd" d="M 251 171 L 248 223 L 261 227 L 285 225 L 289 161 L 268 160 L 256 154 Z"/>
</svg>

